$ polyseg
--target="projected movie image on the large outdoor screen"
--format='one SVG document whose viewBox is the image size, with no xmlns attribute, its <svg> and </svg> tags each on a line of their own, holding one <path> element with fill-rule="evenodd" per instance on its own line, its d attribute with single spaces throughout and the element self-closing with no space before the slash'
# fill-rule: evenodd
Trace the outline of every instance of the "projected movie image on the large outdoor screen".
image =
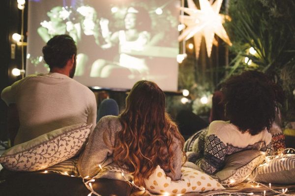
<svg viewBox="0 0 295 196">
<path fill-rule="evenodd" d="M 31 0 L 27 74 L 46 73 L 42 47 L 68 34 L 77 43 L 74 79 L 130 89 L 141 79 L 177 90 L 178 0 Z"/>
</svg>

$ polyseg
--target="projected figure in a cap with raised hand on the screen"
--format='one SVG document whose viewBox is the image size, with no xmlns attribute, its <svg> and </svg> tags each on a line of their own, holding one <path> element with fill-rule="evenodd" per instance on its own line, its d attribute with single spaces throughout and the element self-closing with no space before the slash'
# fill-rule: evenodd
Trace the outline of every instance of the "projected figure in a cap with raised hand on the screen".
<svg viewBox="0 0 295 196">
<path fill-rule="evenodd" d="M 109 77 L 114 72 L 127 74 L 128 78 L 142 78 L 149 72 L 146 59 L 132 55 L 134 51 L 143 51 L 145 46 L 150 45 L 151 20 L 149 13 L 142 7 L 129 7 L 124 18 L 124 30 L 119 30 L 110 35 L 108 20 L 101 19 L 100 25 L 102 36 L 107 44 L 104 49 L 116 44 L 119 47 L 119 61 L 108 62 L 103 59 L 95 61 L 91 67 L 90 77 Z"/>
</svg>

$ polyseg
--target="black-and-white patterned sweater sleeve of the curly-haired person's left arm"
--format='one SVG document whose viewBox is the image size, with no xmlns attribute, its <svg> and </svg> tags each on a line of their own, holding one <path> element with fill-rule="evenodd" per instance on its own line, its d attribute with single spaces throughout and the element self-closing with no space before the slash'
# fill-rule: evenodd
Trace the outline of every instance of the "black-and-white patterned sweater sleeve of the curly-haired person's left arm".
<svg viewBox="0 0 295 196">
<path fill-rule="evenodd" d="M 218 172 L 225 162 L 226 145 L 214 134 L 207 136 L 204 148 L 204 158 L 197 161 L 197 165 L 208 173 Z"/>
</svg>

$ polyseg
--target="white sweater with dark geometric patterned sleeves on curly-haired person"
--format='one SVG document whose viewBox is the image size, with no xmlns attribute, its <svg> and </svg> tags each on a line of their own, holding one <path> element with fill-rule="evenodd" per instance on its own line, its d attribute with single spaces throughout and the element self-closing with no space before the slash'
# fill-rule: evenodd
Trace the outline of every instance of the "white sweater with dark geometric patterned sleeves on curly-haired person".
<svg viewBox="0 0 295 196">
<path fill-rule="evenodd" d="M 272 154 L 271 134 L 265 129 L 257 135 L 242 133 L 229 122 L 213 121 L 195 141 L 195 152 L 202 158 L 195 163 L 204 172 L 213 174 L 220 171 L 227 155 L 248 149 L 265 151 Z"/>
</svg>

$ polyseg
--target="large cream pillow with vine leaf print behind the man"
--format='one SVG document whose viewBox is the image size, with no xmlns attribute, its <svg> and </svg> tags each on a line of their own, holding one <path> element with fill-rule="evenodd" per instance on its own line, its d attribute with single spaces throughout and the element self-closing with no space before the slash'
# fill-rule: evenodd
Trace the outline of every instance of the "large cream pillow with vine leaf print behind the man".
<svg viewBox="0 0 295 196">
<path fill-rule="evenodd" d="M 0 156 L 0 163 L 13 171 L 48 168 L 75 156 L 86 142 L 91 126 L 84 123 L 63 127 L 11 147 Z"/>
</svg>

